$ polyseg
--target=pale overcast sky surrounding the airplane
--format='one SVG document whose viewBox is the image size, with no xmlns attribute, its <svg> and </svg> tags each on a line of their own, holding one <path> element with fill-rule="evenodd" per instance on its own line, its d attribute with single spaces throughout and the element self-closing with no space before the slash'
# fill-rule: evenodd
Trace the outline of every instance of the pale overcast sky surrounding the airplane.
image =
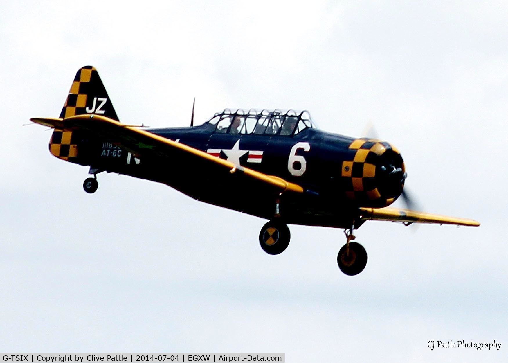
<svg viewBox="0 0 508 363">
<path fill-rule="evenodd" d="M 2 351 L 506 361 L 506 2 L 48 3 L 0 3 Z M 167 186 L 99 174 L 88 195 L 88 168 L 22 126 L 57 117 L 85 65 L 127 124 L 186 126 L 193 97 L 197 122 L 257 107 L 350 136 L 372 123 L 425 211 L 482 226 L 367 222 L 347 277 L 342 230 L 290 226 L 269 256 L 264 220 Z M 462 339 L 502 346 L 427 348 Z"/>
</svg>

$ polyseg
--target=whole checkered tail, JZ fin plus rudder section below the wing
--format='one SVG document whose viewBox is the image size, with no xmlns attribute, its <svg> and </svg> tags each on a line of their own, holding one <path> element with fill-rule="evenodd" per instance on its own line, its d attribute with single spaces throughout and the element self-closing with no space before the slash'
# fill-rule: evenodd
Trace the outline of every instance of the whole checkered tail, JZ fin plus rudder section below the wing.
<svg viewBox="0 0 508 363">
<path fill-rule="evenodd" d="M 60 118 L 91 113 L 101 114 L 118 121 L 118 116 L 97 69 L 85 66 L 74 77 L 71 90 L 60 112 Z M 77 162 L 78 134 L 78 131 L 55 128 L 49 141 L 51 154 L 58 159 Z"/>
</svg>

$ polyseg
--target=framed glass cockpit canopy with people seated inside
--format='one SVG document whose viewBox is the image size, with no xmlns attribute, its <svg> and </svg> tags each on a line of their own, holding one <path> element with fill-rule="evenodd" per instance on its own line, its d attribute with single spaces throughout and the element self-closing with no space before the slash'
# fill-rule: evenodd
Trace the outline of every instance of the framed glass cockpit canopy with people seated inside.
<svg viewBox="0 0 508 363">
<path fill-rule="evenodd" d="M 236 110 L 225 109 L 215 113 L 205 125 L 222 134 L 255 134 L 293 136 L 305 129 L 316 127 L 308 111 L 294 110 Z"/>
</svg>

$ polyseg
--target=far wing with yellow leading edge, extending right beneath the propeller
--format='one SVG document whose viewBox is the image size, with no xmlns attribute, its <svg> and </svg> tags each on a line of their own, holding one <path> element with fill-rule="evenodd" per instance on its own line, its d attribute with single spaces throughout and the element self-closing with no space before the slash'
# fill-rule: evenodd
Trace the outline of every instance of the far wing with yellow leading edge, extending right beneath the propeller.
<svg viewBox="0 0 508 363">
<path fill-rule="evenodd" d="M 398 208 L 360 208 L 363 220 L 392 221 L 404 223 L 435 223 L 454 224 L 460 226 L 478 227 L 480 223 L 472 219 L 440 216 L 420 211 Z"/>
</svg>

